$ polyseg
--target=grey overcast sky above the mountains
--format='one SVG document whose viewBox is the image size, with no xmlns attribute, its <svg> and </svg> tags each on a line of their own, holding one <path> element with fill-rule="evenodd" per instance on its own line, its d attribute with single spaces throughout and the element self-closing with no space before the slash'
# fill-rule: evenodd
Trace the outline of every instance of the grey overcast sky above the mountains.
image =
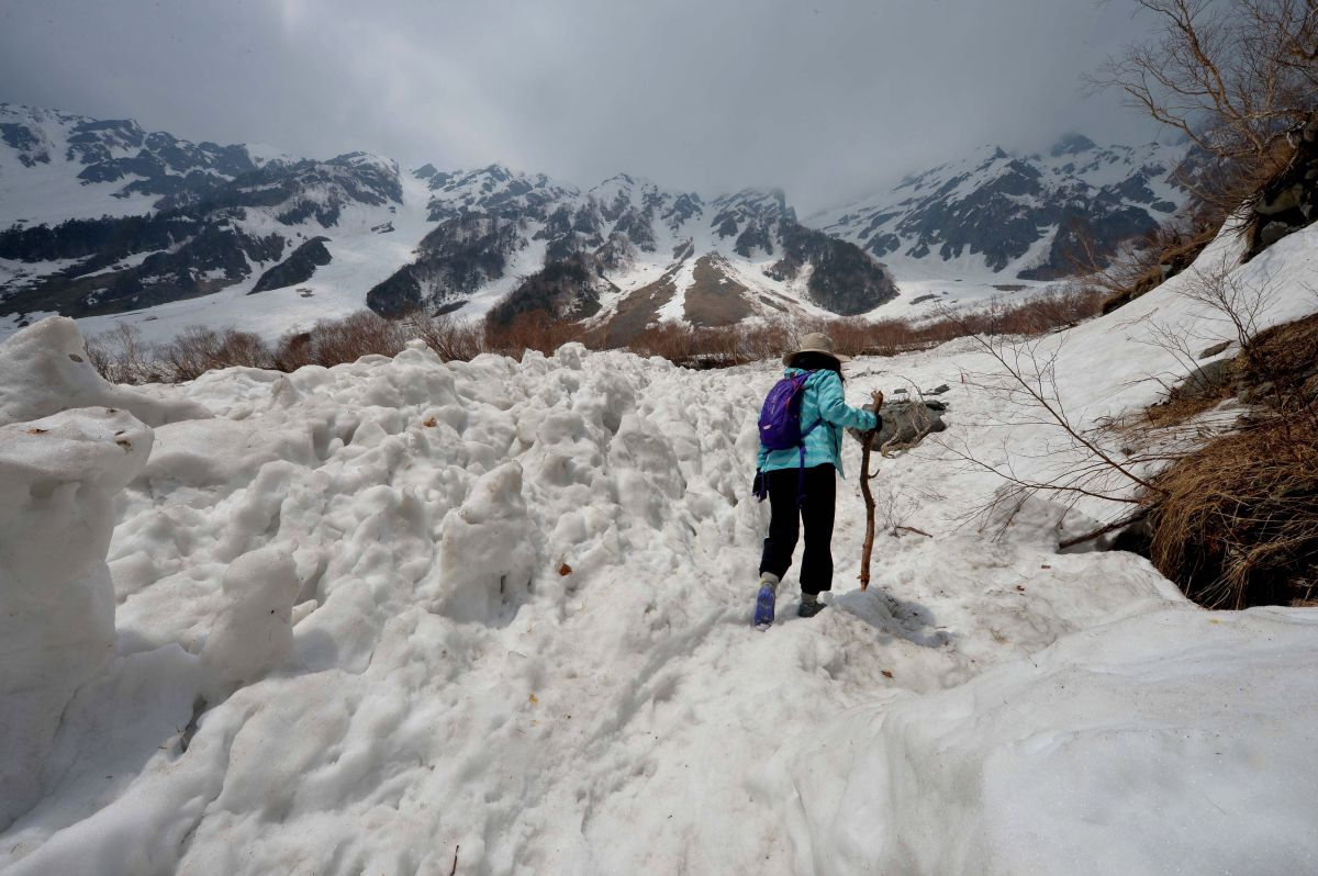
<svg viewBox="0 0 1318 876">
<path fill-rule="evenodd" d="M 0 101 L 809 211 L 987 142 L 1156 128 L 1081 75 L 1130 0 L 0 0 Z M 1164 134 L 1165 136 L 1165 134 Z"/>
</svg>

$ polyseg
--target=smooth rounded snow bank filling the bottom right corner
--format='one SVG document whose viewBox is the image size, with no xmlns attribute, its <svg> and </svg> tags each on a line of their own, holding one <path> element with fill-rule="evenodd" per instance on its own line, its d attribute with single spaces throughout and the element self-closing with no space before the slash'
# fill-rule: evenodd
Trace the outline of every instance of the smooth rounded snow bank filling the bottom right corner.
<svg viewBox="0 0 1318 876">
<path fill-rule="evenodd" d="M 801 872 L 1318 869 L 1318 610 L 1161 611 L 797 756 Z"/>
</svg>

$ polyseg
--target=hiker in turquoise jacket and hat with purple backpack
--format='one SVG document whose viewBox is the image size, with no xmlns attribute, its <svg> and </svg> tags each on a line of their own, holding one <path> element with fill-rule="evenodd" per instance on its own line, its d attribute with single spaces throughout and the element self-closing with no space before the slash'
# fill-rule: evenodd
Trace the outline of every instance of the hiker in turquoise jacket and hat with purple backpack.
<svg viewBox="0 0 1318 876">
<path fill-rule="evenodd" d="M 800 349 L 783 357 L 787 366 L 783 379 L 770 393 L 760 414 L 755 495 L 762 502 L 768 497 L 770 523 L 759 561 L 757 627 L 774 622 L 778 585 L 792 564 L 800 522 L 805 524 L 805 551 L 801 555 L 801 605 L 796 614 L 803 618 L 818 614 L 824 609 L 818 594 L 833 588 L 833 501 L 837 476 L 842 474 L 842 429 L 870 432 L 880 424 L 876 414 L 847 407 L 842 398 L 842 362 L 849 360 L 833 352 L 828 335 L 807 335 Z M 784 422 L 789 415 L 775 415 L 770 408 L 776 402 L 779 411 L 786 411 L 784 399 L 793 394 L 792 406 L 799 404 L 795 407 L 799 419 Z M 874 393 L 873 402 L 878 411 L 883 393 Z M 799 432 L 793 431 L 797 428 Z M 779 447 L 786 441 L 792 444 L 771 449 L 766 441 Z"/>
</svg>

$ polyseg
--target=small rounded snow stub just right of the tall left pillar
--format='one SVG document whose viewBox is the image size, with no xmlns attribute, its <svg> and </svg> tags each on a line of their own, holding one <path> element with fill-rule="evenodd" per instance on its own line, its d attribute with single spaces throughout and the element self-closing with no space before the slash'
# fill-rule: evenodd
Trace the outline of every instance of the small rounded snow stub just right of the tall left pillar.
<svg viewBox="0 0 1318 876">
<path fill-rule="evenodd" d="M 229 564 L 223 588 L 224 607 L 202 648 L 212 701 L 289 660 L 298 570 L 286 551 L 261 548 Z"/>
</svg>

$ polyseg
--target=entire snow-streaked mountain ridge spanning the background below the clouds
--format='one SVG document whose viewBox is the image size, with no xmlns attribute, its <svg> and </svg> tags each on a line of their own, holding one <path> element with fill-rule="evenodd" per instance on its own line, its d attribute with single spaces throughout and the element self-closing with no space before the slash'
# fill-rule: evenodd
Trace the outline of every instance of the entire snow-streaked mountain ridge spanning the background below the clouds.
<svg viewBox="0 0 1318 876">
<path fill-rule="evenodd" d="M 1180 204 L 1166 167 L 1112 173 L 1136 151 L 1082 134 L 1046 159 L 986 148 L 800 220 L 772 187 L 710 198 L 625 171 L 583 187 L 501 163 L 402 170 L 0 104 L 0 332 L 47 312 L 285 331 L 369 306 L 544 311 L 626 342 L 662 321 L 873 314 L 929 298 L 899 290 L 904 271 L 969 265 L 982 292 L 1058 275 L 1048 248 L 1068 215 L 1104 240 L 1147 229 Z"/>
</svg>

